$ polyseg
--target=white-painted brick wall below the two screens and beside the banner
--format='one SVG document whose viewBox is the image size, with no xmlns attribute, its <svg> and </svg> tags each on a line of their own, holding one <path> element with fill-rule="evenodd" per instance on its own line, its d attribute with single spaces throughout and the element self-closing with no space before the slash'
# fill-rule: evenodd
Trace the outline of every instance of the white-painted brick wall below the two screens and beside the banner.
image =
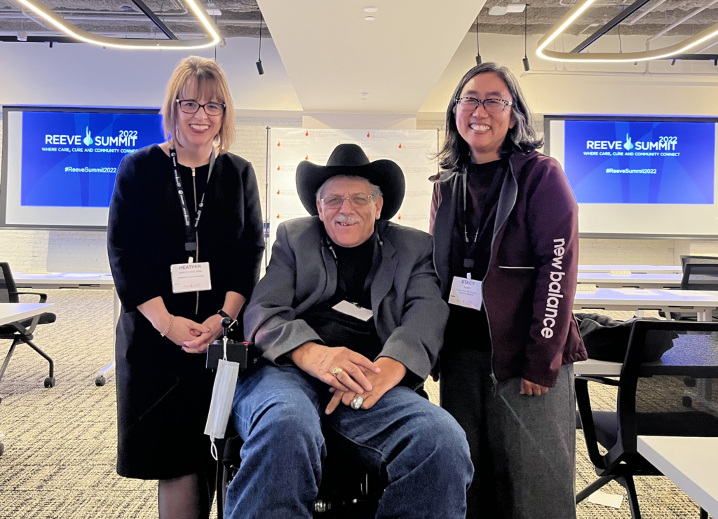
<svg viewBox="0 0 718 519">
<path fill-rule="evenodd" d="M 231 148 L 254 166 L 264 214 L 266 202 L 266 127 L 301 127 L 302 118 L 238 117 Z M 541 127 L 539 123 L 539 127 Z M 438 117 L 416 120 L 417 129 L 444 130 Z M 443 138 L 442 132 L 439 132 Z M 2 128 L 0 125 L 0 140 Z M 0 152 L 1 153 L 1 152 Z M 670 239 L 581 239 L 582 264 L 678 265 L 680 254 L 717 254 L 718 241 Z M 0 230 L 0 260 L 14 270 L 108 272 L 106 233 Z"/>
</svg>

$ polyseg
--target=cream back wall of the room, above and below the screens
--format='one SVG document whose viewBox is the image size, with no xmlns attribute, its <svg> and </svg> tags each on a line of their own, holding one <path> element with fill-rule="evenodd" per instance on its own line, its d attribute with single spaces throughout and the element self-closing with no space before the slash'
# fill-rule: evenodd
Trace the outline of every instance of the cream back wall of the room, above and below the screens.
<svg viewBox="0 0 718 519">
<path fill-rule="evenodd" d="M 521 65 L 523 37 L 481 34 L 482 57 L 513 68 L 521 75 L 534 110 L 544 113 L 645 113 L 665 115 L 718 115 L 716 79 L 700 74 L 712 73 L 712 64 L 654 62 L 650 73 L 670 72 L 671 76 L 619 76 L 634 73 L 628 65 L 556 65 L 535 56 L 532 47 L 538 37 L 529 37 L 531 72 L 524 75 Z M 575 37 L 564 37 L 572 47 Z M 680 38 L 679 38 L 680 39 Z M 676 41 L 663 38 L 659 44 Z M 623 49 L 645 47 L 645 38 L 623 37 Z M 217 50 L 217 58 L 228 72 L 240 118 L 238 142 L 233 151 L 249 158 L 264 186 L 266 129 L 271 126 L 309 124 L 286 75 L 276 47 L 263 44 L 265 75 L 254 68 L 256 39 L 230 39 Z M 442 128 L 444 110 L 452 89 L 461 75 L 475 63 L 475 34 L 468 34 L 426 102 L 416 114 L 416 128 Z M 599 44 L 618 49 L 616 37 Z M 560 46 L 559 46 L 560 47 Z M 198 52 L 213 57 L 213 50 Z M 116 105 L 156 106 L 162 101 L 167 77 L 182 55 L 176 52 L 134 52 L 100 49 L 83 44 L 60 44 L 49 49 L 42 44 L 4 44 L 0 46 L 0 103 L 35 105 Z M 638 65 L 643 72 L 645 65 Z M 563 70 L 563 69 L 567 70 Z M 602 72 L 603 71 L 603 72 Z M 611 71 L 611 72 L 607 72 Z M 601 75 L 579 75 L 585 73 Z M 698 74 L 698 75 L 696 75 Z M 272 117 L 274 114 L 276 116 Z M 243 117 L 242 115 L 245 115 Z M 304 123 L 300 122 L 306 115 Z M 332 114 L 332 120 L 351 120 L 356 115 Z M 377 118 L 379 119 L 379 118 Z M 539 126 L 541 126 L 539 124 Z M 375 128 L 378 128 L 375 126 Z M 263 197 L 264 189 L 260 189 Z M 0 231 L 3 257 L 13 258 L 17 270 L 52 267 L 55 270 L 107 270 L 103 233 Z M 698 245 L 696 245 L 698 247 Z M 704 253 L 718 253 L 716 242 L 701 241 Z M 583 263 L 674 263 L 678 255 L 691 252 L 690 240 L 582 239 Z M 70 268 L 75 265 L 75 268 Z M 60 268 L 60 267 L 65 268 Z"/>
</svg>

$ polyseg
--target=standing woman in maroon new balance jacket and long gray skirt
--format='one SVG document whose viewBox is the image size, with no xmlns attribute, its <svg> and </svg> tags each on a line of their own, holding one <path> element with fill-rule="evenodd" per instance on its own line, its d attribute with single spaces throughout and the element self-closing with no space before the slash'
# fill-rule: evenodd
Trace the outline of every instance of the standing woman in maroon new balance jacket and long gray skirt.
<svg viewBox="0 0 718 519">
<path fill-rule="evenodd" d="M 506 67 L 462 78 L 432 177 L 434 264 L 451 313 L 441 404 L 475 467 L 467 518 L 575 518 L 572 303 L 578 207 Z"/>
</svg>

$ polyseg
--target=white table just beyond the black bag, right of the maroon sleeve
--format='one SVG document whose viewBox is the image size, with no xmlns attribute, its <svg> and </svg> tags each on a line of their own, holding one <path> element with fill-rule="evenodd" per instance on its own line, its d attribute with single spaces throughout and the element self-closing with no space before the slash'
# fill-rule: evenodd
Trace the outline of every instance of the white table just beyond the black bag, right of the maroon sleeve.
<svg viewBox="0 0 718 519">
<path fill-rule="evenodd" d="M 699 321 L 712 319 L 718 308 L 718 292 L 700 290 L 640 290 L 600 288 L 592 292 L 576 292 L 574 310 L 662 310 L 695 312 Z"/>
</svg>

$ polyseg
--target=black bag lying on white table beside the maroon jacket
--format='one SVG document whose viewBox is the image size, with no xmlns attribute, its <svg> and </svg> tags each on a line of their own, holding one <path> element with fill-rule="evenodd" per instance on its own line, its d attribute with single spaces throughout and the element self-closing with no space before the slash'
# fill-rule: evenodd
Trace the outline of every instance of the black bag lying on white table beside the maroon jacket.
<svg viewBox="0 0 718 519">
<path fill-rule="evenodd" d="M 577 313 L 579 332 L 586 346 L 589 358 L 597 361 L 623 362 L 628 350 L 628 338 L 633 321 L 615 320 L 608 315 Z M 641 320 L 658 320 L 642 318 Z M 663 353 L 673 348 L 673 339 L 678 335 L 668 330 L 650 330 L 645 336 L 643 361 L 658 361 Z"/>
</svg>

